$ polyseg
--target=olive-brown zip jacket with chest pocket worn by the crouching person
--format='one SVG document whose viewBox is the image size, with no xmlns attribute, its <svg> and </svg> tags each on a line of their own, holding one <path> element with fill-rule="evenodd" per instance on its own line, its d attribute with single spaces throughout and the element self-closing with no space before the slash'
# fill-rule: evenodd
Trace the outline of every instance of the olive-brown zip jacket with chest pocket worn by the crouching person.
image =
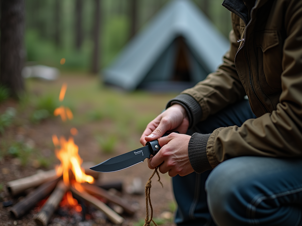
<svg viewBox="0 0 302 226">
<path fill-rule="evenodd" d="M 258 118 L 214 130 L 210 165 L 243 155 L 302 157 L 302 1 L 222 5 L 232 12 L 230 50 L 216 72 L 182 94 L 198 102 L 201 121 L 245 95 Z"/>
</svg>

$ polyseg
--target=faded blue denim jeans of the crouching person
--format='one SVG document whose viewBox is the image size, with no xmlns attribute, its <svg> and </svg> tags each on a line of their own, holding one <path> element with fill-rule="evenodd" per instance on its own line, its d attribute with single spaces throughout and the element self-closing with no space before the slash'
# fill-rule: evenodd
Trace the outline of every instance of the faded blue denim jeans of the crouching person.
<svg viewBox="0 0 302 226">
<path fill-rule="evenodd" d="M 188 133 L 211 133 L 256 118 L 248 100 Z M 173 177 L 177 225 L 302 225 L 302 159 L 243 156 L 202 174 Z"/>
</svg>

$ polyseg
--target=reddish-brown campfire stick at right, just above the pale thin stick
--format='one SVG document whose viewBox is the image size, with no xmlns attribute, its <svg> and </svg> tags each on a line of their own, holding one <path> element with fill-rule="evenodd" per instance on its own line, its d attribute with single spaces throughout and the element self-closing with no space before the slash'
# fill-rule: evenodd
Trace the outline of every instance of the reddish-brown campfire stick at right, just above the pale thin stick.
<svg viewBox="0 0 302 226">
<path fill-rule="evenodd" d="M 82 187 L 84 187 L 84 189 L 89 194 L 101 196 L 102 198 L 108 200 L 109 202 L 113 202 L 121 206 L 124 209 L 124 211 L 130 215 L 133 215 L 136 212 L 136 209 L 134 209 L 131 205 L 129 205 L 126 202 L 126 200 L 122 199 L 119 196 L 113 195 L 100 187 L 88 183 L 82 184 Z"/>
</svg>

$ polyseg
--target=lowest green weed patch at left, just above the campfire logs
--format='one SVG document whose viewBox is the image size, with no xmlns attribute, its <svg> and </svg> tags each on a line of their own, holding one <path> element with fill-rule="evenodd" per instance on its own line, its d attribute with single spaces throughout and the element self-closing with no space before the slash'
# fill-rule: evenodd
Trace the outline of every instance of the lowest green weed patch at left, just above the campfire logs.
<svg viewBox="0 0 302 226">
<path fill-rule="evenodd" d="M 14 142 L 8 148 L 8 154 L 21 160 L 23 166 L 27 165 L 28 159 L 31 156 L 33 149 L 28 147 L 23 142 Z"/>
</svg>

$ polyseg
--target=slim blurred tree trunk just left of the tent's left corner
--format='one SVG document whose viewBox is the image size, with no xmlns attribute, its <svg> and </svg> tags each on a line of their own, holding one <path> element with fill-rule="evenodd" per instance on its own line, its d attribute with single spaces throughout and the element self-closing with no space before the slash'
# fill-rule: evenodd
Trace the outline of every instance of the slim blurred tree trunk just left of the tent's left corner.
<svg viewBox="0 0 302 226">
<path fill-rule="evenodd" d="M 100 70 L 100 62 L 101 62 L 101 56 L 100 56 L 100 24 L 101 24 L 101 0 L 95 0 L 95 24 L 93 28 L 93 42 L 94 42 L 94 48 L 92 51 L 92 72 L 98 73 Z"/>
</svg>

